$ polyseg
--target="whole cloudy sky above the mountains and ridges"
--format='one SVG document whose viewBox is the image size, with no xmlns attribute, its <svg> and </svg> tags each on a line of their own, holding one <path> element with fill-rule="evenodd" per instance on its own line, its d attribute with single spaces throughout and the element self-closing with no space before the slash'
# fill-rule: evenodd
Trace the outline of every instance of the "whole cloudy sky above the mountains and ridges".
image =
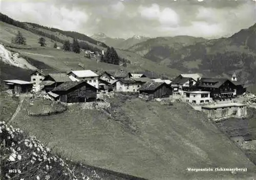
<svg viewBox="0 0 256 180">
<path fill-rule="evenodd" d="M 256 23 L 256 0 L 0 0 L 2 13 L 113 38 L 228 37 Z"/>
</svg>

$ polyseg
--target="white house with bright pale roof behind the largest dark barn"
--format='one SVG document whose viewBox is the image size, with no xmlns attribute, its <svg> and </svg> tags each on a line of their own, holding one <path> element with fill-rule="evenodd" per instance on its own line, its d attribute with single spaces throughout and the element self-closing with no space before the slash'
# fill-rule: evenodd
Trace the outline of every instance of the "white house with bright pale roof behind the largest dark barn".
<svg viewBox="0 0 256 180">
<path fill-rule="evenodd" d="M 72 81 L 85 81 L 98 89 L 98 74 L 91 70 L 74 70 L 68 73 Z"/>
</svg>

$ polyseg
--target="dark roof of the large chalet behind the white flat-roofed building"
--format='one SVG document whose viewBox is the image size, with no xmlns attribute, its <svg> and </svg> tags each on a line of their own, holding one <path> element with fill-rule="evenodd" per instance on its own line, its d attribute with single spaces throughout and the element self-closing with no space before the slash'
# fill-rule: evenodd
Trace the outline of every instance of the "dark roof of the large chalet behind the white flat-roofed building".
<svg viewBox="0 0 256 180">
<path fill-rule="evenodd" d="M 224 78 L 201 78 L 201 80 L 197 83 L 197 86 L 205 87 L 205 88 L 219 88 L 226 81 L 231 82 L 230 80 L 224 79 Z M 205 85 L 203 83 L 214 83 L 214 84 L 213 85 Z M 231 82 L 231 83 L 233 83 L 233 82 Z"/>
</svg>

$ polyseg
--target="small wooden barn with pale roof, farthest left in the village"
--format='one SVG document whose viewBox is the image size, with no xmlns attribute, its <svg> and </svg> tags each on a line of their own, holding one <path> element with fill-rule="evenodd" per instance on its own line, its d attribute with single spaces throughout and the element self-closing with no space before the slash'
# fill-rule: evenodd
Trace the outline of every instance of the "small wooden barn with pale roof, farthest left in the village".
<svg viewBox="0 0 256 180">
<path fill-rule="evenodd" d="M 33 83 L 21 80 L 5 80 L 5 88 L 11 89 L 13 94 L 31 93 Z"/>
</svg>

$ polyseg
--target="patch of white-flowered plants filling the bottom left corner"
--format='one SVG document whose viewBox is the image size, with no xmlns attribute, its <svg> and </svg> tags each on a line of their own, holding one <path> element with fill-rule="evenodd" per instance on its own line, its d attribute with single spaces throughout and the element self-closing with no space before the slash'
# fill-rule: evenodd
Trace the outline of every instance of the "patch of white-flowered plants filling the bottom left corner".
<svg viewBox="0 0 256 180">
<path fill-rule="evenodd" d="M 67 163 L 50 153 L 34 136 L 0 121 L 0 155 L 4 179 L 102 179 L 95 170 L 82 164 Z"/>
</svg>

